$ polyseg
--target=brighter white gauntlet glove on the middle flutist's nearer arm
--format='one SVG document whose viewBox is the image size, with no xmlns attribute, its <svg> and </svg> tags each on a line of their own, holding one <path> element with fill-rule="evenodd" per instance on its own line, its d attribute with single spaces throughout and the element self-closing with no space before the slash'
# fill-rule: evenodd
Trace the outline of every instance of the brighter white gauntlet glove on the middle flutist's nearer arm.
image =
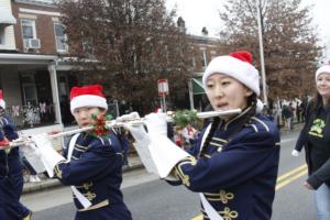
<svg viewBox="0 0 330 220">
<path fill-rule="evenodd" d="M 51 138 L 47 134 L 33 135 L 31 139 L 40 151 L 45 169 L 50 177 L 53 177 L 56 164 L 65 161 L 65 158 L 53 148 Z"/>
</svg>

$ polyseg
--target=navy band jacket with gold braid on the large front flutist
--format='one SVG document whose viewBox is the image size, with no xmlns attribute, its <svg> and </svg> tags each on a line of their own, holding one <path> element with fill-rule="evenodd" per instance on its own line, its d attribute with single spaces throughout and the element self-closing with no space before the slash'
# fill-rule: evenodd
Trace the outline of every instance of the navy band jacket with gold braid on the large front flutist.
<svg viewBox="0 0 330 220">
<path fill-rule="evenodd" d="M 272 216 L 279 160 L 279 132 L 264 116 L 255 114 L 243 127 L 240 116 L 219 127 L 206 148 L 201 132 L 190 157 L 174 170 L 180 183 L 204 193 L 224 220 L 266 220 Z M 209 219 L 201 207 L 204 219 Z"/>
</svg>

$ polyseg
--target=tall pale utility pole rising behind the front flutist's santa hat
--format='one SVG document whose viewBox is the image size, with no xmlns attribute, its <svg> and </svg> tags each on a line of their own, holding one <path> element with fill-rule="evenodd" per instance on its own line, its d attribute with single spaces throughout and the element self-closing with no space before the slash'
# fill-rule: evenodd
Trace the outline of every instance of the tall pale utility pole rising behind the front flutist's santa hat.
<svg viewBox="0 0 330 220">
<path fill-rule="evenodd" d="M 261 22 L 261 0 L 256 0 L 256 11 L 257 11 L 257 30 L 258 30 L 258 47 L 260 47 L 260 62 L 262 70 L 262 85 L 263 85 L 263 99 L 264 105 L 268 105 L 267 91 L 266 91 L 266 74 L 265 74 L 265 61 L 264 61 L 264 44 L 263 44 L 263 32 L 262 32 L 262 22 Z"/>
</svg>

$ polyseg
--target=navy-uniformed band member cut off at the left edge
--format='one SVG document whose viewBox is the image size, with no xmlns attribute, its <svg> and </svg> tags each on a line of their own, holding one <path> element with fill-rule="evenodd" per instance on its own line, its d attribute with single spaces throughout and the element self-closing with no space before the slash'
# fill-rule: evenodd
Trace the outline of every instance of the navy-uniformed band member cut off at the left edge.
<svg viewBox="0 0 330 220">
<path fill-rule="evenodd" d="M 18 138 L 14 124 L 6 114 L 0 90 L 0 219 L 3 220 L 30 220 L 32 216 L 20 202 L 24 180 L 19 147 L 9 148 L 9 141 Z"/>
</svg>

